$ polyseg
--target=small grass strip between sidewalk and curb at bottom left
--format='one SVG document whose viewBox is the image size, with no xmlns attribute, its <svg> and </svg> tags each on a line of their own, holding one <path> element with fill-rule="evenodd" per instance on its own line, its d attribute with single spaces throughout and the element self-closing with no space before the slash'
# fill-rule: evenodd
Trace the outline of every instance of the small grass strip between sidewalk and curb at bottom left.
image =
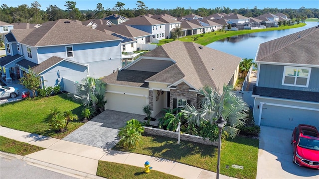
<svg viewBox="0 0 319 179">
<path fill-rule="evenodd" d="M 19 142 L 16 140 L 12 140 L 12 139 L 0 136 L 0 151 L 6 152 L 6 153 L 25 156 L 43 149 L 44 148 L 42 147 L 30 145 L 25 142 Z"/>
</svg>

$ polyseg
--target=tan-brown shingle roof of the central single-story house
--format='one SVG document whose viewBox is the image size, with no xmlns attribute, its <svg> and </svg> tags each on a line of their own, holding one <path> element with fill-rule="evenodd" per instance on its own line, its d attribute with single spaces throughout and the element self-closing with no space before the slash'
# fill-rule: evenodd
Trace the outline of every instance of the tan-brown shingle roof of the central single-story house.
<svg viewBox="0 0 319 179">
<path fill-rule="evenodd" d="M 154 57 L 166 60 L 151 60 Z M 175 62 L 175 64 L 167 64 L 169 61 L 171 64 L 172 62 Z M 140 71 L 144 72 L 147 72 L 147 70 L 152 71 L 154 74 L 147 78 L 146 82 L 172 84 L 180 79 L 184 79 L 196 89 L 209 85 L 219 89 L 221 92 L 224 84 L 227 85 L 233 77 L 240 61 L 241 58 L 239 57 L 193 42 L 181 42 L 177 40 L 161 45 L 151 52 L 144 54 L 140 60 L 133 62 L 127 69 L 134 71 L 139 71 L 140 69 Z M 167 68 L 161 66 L 162 70 L 151 70 L 148 68 L 152 65 L 157 67 L 159 66 L 158 63 L 166 63 L 168 66 Z M 122 69 L 120 72 L 122 71 L 127 70 Z M 114 80 L 115 77 L 108 76 L 104 79 L 107 83 L 134 85 L 125 83 L 125 79 L 121 82 L 116 82 Z"/>
</svg>

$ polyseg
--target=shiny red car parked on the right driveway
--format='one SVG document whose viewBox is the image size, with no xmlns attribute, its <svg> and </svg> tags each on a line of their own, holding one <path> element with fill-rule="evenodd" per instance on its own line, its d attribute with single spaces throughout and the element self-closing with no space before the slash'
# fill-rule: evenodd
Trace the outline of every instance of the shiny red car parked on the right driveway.
<svg viewBox="0 0 319 179">
<path fill-rule="evenodd" d="M 292 134 L 293 163 L 319 170 L 319 132 L 315 126 L 299 124 Z"/>
</svg>

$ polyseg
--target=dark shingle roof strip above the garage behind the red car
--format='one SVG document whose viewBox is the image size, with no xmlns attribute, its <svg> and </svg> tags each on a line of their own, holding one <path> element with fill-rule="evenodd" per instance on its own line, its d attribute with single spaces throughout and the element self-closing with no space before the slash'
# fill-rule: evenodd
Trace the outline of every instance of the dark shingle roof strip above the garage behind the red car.
<svg viewBox="0 0 319 179">
<path fill-rule="evenodd" d="M 312 92 L 312 91 L 254 87 L 253 94 L 260 95 L 260 96 L 267 96 L 267 97 L 283 98 L 283 99 L 319 102 L 318 92 Z"/>
</svg>

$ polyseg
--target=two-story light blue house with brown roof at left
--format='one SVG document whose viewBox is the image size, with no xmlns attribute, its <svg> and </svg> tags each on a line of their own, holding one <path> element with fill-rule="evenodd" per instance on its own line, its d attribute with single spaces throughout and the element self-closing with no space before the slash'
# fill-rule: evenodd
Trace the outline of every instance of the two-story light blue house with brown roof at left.
<svg viewBox="0 0 319 179">
<path fill-rule="evenodd" d="M 31 67 L 41 76 L 42 87 L 59 84 L 63 89 L 62 78 L 79 82 L 87 76 L 107 76 L 121 68 L 121 41 L 68 19 L 11 30 L 4 39 L 6 56 L 0 58 L 6 72 L 1 70 L 2 78 L 9 83 Z"/>
</svg>

